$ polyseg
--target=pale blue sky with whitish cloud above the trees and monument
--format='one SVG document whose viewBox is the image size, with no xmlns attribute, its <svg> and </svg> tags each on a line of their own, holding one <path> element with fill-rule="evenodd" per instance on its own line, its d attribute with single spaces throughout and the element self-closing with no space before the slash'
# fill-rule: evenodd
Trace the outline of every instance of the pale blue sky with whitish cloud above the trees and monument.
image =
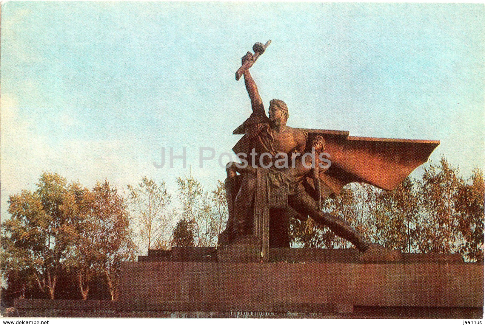
<svg viewBox="0 0 485 325">
<path fill-rule="evenodd" d="M 187 147 L 205 185 L 224 179 L 198 148 L 230 152 L 250 114 L 234 72 L 255 42 L 263 101 L 288 124 L 353 136 L 437 139 L 468 177 L 484 166 L 484 5 L 17 2 L 1 6 L 1 213 L 43 170 L 121 188 Z M 419 170 L 415 171 L 419 173 Z"/>
</svg>

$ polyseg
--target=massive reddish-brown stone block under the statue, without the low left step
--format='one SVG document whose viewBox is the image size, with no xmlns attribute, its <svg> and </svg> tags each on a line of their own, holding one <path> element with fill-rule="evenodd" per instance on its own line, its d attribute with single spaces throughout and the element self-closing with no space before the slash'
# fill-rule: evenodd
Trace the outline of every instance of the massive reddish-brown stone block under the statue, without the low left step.
<svg viewBox="0 0 485 325">
<path fill-rule="evenodd" d="M 457 255 L 403 254 L 400 262 L 371 263 L 354 249 L 269 253 L 270 263 L 123 263 L 120 301 L 218 312 L 483 309 L 483 265 Z"/>
</svg>

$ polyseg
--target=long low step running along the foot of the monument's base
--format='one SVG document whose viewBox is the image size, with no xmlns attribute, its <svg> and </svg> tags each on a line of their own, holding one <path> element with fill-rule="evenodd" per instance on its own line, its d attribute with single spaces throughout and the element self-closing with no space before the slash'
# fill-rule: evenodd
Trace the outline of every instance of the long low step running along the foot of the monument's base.
<svg viewBox="0 0 485 325">
<path fill-rule="evenodd" d="M 255 305 L 258 305 L 257 303 Z M 482 308 L 372 307 L 332 304 L 259 304 L 263 311 L 227 311 L 222 303 L 125 303 L 106 300 L 15 299 L 6 317 L 158 317 L 158 318 L 449 318 L 481 319 Z M 300 310 L 300 311 L 290 311 Z M 306 312 L 304 310 L 307 310 Z"/>
</svg>

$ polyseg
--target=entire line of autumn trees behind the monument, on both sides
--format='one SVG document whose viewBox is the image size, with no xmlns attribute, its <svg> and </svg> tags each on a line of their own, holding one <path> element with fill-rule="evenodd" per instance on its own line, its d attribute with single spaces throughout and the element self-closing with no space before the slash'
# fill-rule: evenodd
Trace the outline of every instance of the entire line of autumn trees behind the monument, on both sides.
<svg viewBox="0 0 485 325">
<path fill-rule="evenodd" d="M 27 293 L 54 299 L 61 283 L 61 298 L 73 298 L 77 291 L 82 299 L 107 295 L 116 300 L 120 266 L 134 259 L 136 238 L 139 247 L 215 246 L 227 220 L 224 184 L 207 190 L 192 175 L 179 177 L 177 184 L 180 217 L 171 232 L 171 195 L 163 182 L 143 177 L 129 186 L 130 218 L 128 201 L 107 180 L 89 190 L 56 173 L 43 173 L 34 191 L 22 190 L 8 200 L 11 218 L 1 225 L 0 259 L 9 289 L 2 290 L 2 297 Z M 322 210 L 388 248 L 460 253 L 466 261 L 484 262 L 483 171 L 473 170 L 464 179 L 445 158 L 427 164 L 420 178 L 408 177 L 393 191 L 345 186 Z M 292 219 L 290 238 L 293 247 L 351 247 L 311 218 Z"/>
</svg>

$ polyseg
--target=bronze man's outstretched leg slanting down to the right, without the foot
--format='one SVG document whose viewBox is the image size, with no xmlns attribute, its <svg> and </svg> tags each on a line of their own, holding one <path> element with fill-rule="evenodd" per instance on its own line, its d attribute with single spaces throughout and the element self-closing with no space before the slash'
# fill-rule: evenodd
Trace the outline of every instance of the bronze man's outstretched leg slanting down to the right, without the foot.
<svg viewBox="0 0 485 325">
<path fill-rule="evenodd" d="M 339 237 L 347 239 L 359 251 L 366 251 L 369 247 L 364 238 L 347 221 L 319 211 L 317 201 L 305 191 L 302 185 L 295 189 L 294 195 L 288 197 L 288 204 L 301 215 L 311 217 L 316 222 L 330 228 Z"/>
</svg>

